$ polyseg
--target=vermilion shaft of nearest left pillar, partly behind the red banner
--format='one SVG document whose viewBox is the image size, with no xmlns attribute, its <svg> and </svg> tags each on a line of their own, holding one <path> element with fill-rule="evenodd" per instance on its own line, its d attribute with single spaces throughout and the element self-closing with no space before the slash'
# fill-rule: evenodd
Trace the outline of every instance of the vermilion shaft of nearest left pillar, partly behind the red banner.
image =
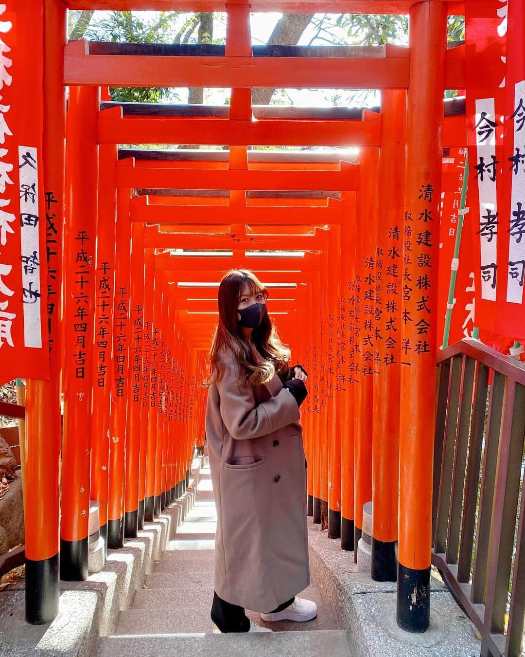
<svg viewBox="0 0 525 657">
<path fill-rule="evenodd" d="M 62 223 L 64 220 L 64 160 L 66 137 L 66 98 L 62 85 L 62 44 L 66 40 L 66 15 L 62 3 L 47 2 L 44 5 L 43 35 L 43 182 L 44 192 L 53 193 L 56 199 L 54 221 L 56 221 L 57 244 L 55 276 L 49 277 L 48 303 L 54 304 L 51 318 L 51 337 L 53 348 L 50 354 L 49 381 L 26 381 L 26 489 L 24 491 L 26 556 L 32 560 L 53 558 L 59 550 L 59 509 L 60 509 L 60 364 L 62 336 L 60 330 L 62 279 Z M 26 26 L 30 29 L 30 26 Z M 22 56 L 22 55 L 20 55 Z M 13 108 L 16 112 L 16 108 Z M 51 213 L 53 214 L 53 213 Z M 51 243 L 49 246 L 53 246 Z M 52 295 L 51 292 L 56 292 Z M 20 407 L 19 407 L 20 408 Z M 23 411 L 23 409 L 22 409 Z M 5 411 L 0 411 L 3 413 Z M 23 417 L 23 416 L 22 416 Z M 33 579 L 28 572 L 26 582 L 29 586 L 39 583 L 38 576 Z M 58 613 L 58 583 L 56 587 L 56 608 Z M 31 581 L 32 580 L 32 581 Z M 49 601 L 47 610 L 51 608 Z M 53 614 L 53 615 L 54 615 Z M 33 618 L 28 619 L 33 621 Z M 43 620 L 42 616 L 40 620 Z M 52 620 L 52 618 L 45 618 Z"/>
</svg>

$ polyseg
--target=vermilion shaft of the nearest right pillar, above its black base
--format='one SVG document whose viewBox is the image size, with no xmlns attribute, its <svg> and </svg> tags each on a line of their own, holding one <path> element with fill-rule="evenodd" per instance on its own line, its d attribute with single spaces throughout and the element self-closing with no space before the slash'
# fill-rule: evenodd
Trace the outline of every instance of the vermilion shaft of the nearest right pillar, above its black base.
<svg viewBox="0 0 525 657">
<path fill-rule="evenodd" d="M 423 203 L 419 200 L 421 185 L 431 184 L 434 189 L 432 201 L 427 202 L 434 216 L 439 215 L 441 187 L 441 111 L 443 80 L 444 43 L 446 39 L 445 17 L 442 7 L 426 2 L 417 5 L 410 14 L 413 30 L 411 48 L 415 53 L 410 76 L 407 114 L 407 147 L 405 205 L 406 212 L 419 217 Z M 432 52 L 433 57 L 429 57 Z M 410 222 L 407 222 L 410 223 Z M 415 222 L 414 222 L 415 223 Z M 405 568 L 425 570 L 431 564 L 432 533 L 432 461 L 434 453 L 435 376 L 436 376 L 436 292 L 437 263 L 439 250 L 438 223 L 429 221 L 425 229 L 431 233 L 432 246 L 425 249 L 431 255 L 433 267 L 429 269 L 431 288 L 425 292 L 429 313 L 427 353 L 408 351 L 402 365 L 401 399 L 404 403 L 400 416 L 400 497 L 398 560 Z M 417 281 L 417 255 L 421 246 L 413 247 L 413 260 L 408 265 L 411 279 Z M 421 317 L 417 309 L 420 296 L 414 288 L 411 300 L 402 310 L 411 312 L 414 318 Z M 410 339 L 413 346 L 421 337 L 416 321 L 408 322 L 403 328 L 402 338 Z M 429 422 L 429 418 L 431 421 Z"/>
</svg>

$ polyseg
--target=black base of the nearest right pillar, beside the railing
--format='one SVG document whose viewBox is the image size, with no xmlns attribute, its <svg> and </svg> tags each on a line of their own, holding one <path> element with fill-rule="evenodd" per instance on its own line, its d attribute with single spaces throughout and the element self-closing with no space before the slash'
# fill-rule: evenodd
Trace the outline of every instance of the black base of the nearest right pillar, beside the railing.
<svg viewBox="0 0 525 657">
<path fill-rule="evenodd" d="M 423 633 L 431 625 L 431 567 L 398 566 L 397 622 L 406 632 Z"/>
</svg>

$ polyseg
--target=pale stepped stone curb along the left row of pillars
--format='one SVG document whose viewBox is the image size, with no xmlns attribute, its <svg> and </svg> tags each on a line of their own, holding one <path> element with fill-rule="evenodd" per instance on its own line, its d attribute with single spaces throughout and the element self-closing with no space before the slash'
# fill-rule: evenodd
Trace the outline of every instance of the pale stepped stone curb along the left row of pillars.
<svg viewBox="0 0 525 657">
<path fill-rule="evenodd" d="M 25 621 L 24 582 L 0 593 L 0 654 L 26 657 L 88 657 L 96 654 L 100 637 L 116 631 L 119 612 L 128 609 L 135 591 L 161 558 L 167 541 L 192 509 L 203 457 L 193 459 L 191 489 L 153 522 L 144 523 L 137 538 L 108 550 L 103 570 L 86 581 L 60 581 L 58 616 L 45 625 Z"/>
</svg>

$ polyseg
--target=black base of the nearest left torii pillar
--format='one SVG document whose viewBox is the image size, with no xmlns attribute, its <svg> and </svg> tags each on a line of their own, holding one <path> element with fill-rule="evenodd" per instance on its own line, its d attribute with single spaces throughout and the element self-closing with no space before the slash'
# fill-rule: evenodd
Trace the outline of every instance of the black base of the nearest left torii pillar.
<svg viewBox="0 0 525 657">
<path fill-rule="evenodd" d="M 26 557 L 26 621 L 50 623 L 58 614 L 59 597 L 58 553 L 38 561 Z"/>
</svg>

